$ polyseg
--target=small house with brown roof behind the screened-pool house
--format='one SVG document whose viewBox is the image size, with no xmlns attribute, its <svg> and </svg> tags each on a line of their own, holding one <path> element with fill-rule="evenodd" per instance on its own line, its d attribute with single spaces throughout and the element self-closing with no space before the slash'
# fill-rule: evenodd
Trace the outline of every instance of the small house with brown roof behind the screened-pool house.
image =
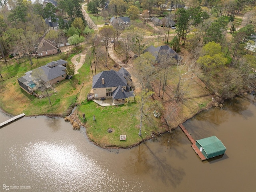
<svg viewBox="0 0 256 192">
<path fill-rule="evenodd" d="M 58 53 L 58 46 L 56 43 L 53 43 L 48 39 L 42 38 L 41 42 L 37 47 L 36 52 L 39 57 L 43 57 L 46 55 L 54 55 Z"/>
</svg>

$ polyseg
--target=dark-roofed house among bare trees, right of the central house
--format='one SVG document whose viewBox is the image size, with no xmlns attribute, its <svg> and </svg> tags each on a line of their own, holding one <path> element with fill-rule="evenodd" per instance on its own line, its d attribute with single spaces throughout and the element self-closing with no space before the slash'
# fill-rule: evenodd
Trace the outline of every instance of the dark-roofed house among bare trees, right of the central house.
<svg viewBox="0 0 256 192">
<path fill-rule="evenodd" d="M 164 54 L 168 54 L 168 56 L 178 60 L 178 54 L 168 45 L 162 45 L 159 47 L 150 46 L 146 48 L 144 52 L 150 52 L 156 58 L 154 63 L 161 62 L 161 58 Z"/>
</svg>

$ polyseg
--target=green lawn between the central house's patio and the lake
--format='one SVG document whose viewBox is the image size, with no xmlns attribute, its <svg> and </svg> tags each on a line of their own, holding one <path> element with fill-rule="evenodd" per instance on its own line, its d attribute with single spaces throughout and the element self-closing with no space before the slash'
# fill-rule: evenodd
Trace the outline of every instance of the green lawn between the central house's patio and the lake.
<svg viewBox="0 0 256 192">
<path fill-rule="evenodd" d="M 157 130 L 164 131 L 160 119 L 154 118 L 153 114 L 150 114 L 152 120 L 144 122 L 142 138 L 140 138 L 138 136 L 139 112 L 136 103 L 101 107 L 93 101 L 89 101 L 79 106 L 78 111 L 81 121 L 86 122 L 86 131 L 90 139 L 103 147 L 126 148 L 148 136 L 151 137 L 151 131 L 155 133 L 158 133 Z M 85 121 L 82 119 L 82 114 L 85 114 Z M 95 116 L 96 121 L 93 120 L 93 116 Z M 112 132 L 108 133 L 108 129 L 112 129 Z M 120 141 L 120 135 L 126 135 L 126 141 Z"/>
</svg>

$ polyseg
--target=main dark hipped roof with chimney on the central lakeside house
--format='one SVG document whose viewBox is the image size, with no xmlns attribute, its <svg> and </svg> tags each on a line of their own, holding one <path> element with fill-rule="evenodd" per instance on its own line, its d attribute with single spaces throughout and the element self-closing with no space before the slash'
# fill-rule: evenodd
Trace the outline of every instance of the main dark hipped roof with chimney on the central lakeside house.
<svg viewBox="0 0 256 192">
<path fill-rule="evenodd" d="M 92 78 L 92 88 L 127 86 L 126 79 L 114 70 L 102 71 Z"/>
</svg>

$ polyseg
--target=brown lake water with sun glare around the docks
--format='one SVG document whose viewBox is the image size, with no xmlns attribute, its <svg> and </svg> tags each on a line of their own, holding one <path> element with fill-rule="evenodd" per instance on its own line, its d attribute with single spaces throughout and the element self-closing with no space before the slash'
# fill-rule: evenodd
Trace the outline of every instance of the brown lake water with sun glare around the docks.
<svg viewBox="0 0 256 192">
<path fill-rule="evenodd" d="M 62 118 L 21 118 L 0 129 L 0 191 L 253 192 L 252 100 L 234 98 L 183 124 L 195 140 L 215 135 L 226 146 L 203 162 L 180 128 L 132 149 L 104 150 Z M 1 113 L 0 122 L 9 118 Z"/>
</svg>

